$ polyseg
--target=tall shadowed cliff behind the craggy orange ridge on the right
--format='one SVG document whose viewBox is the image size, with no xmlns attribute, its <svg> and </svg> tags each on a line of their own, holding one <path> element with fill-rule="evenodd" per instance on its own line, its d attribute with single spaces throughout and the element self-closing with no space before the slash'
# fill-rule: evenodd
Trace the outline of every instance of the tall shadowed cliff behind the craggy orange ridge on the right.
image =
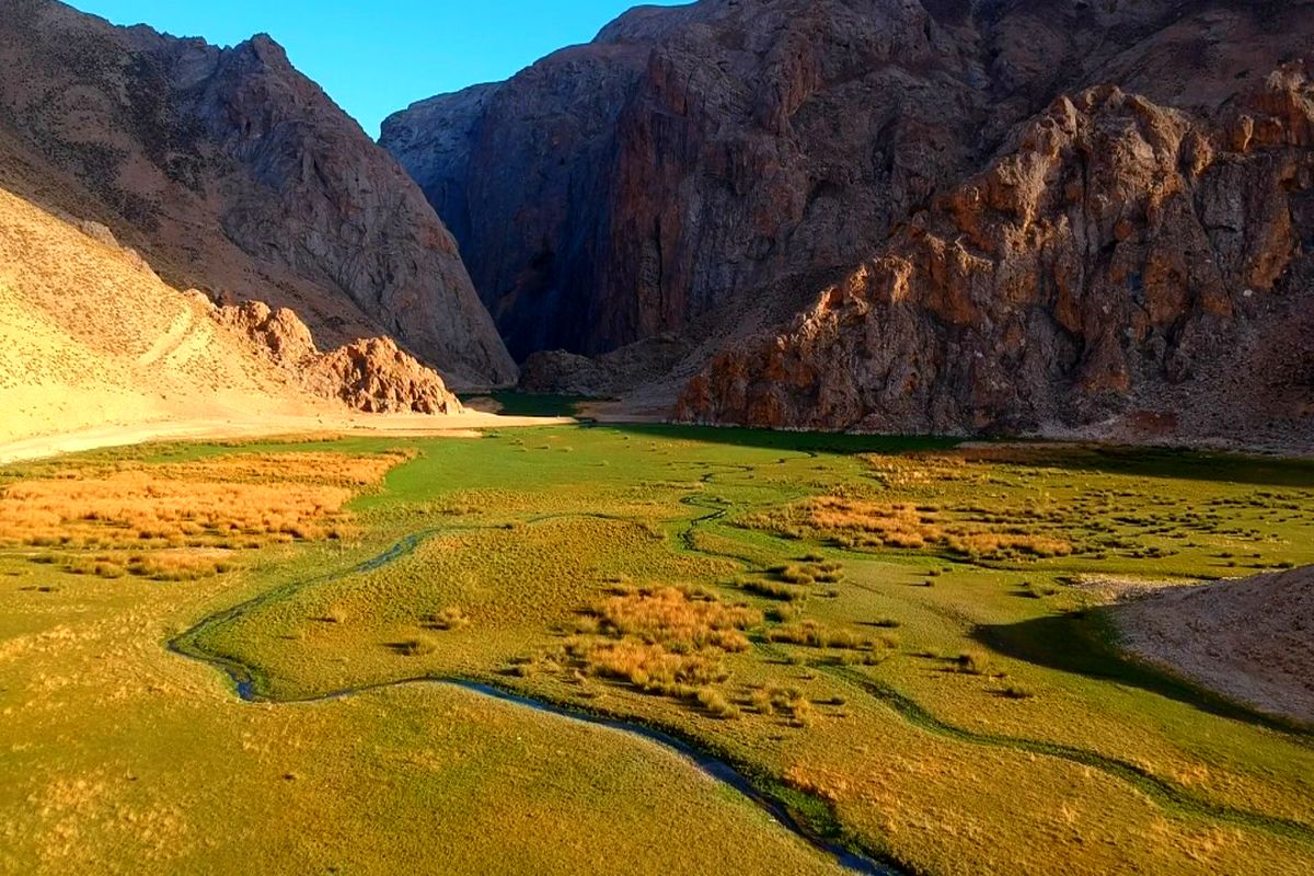
<svg viewBox="0 0 1314 876">
<path fill-rule="evenodd" d="M 741 0 L 641 8 L 382 144 L 453 229 L 512 353 L 599 353 L 838 274 L 1058 93 L 1218 104 L 1303 3 Z"/>
</svg>

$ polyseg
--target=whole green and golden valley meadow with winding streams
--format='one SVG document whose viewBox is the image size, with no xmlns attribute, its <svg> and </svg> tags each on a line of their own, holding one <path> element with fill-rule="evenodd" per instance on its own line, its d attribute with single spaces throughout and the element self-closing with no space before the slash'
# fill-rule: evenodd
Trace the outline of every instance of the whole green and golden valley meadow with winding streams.
<svg viewBox="0 0 1314 876">
<path fill-rule="evenodd" d="M 1310 728 L 1104 611 L 1314 563 L 1307 461 L 579 426 L 0 490 L 5 872 L 1314 868 Z"/>
</svg>

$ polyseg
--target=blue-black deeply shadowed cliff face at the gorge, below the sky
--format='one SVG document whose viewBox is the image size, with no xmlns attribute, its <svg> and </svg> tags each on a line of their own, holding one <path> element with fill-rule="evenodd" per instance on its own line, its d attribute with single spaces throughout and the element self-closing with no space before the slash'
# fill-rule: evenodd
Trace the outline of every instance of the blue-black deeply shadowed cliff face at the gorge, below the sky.
<svg viewBox="0 0 1314 876">
<path fill-rule="evenodd" d="M 384 125 L 464 247 L 470 274 L 518 359 L 599 349 L 606 167 L 643 51 L 566 50 L 510 83 L 418 104 Z M 493 156 L 497 156 L 493 159 Z"/>
</svg>

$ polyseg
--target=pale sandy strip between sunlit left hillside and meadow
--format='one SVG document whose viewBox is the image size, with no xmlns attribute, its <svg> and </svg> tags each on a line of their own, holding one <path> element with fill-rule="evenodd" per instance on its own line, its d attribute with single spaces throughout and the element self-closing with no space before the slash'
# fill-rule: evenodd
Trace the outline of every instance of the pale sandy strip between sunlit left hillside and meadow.
<svg viewBox="0 0 1314 876">
<path fill-rule="evenodd" d="M 106 447 L 126 447 L 147 441 L 256 439 L 279 435 L 378 435 L 473 437 L 487 428 L 522 426 L 561 426 L 569 418 L 501 416 L 466 411 L 447 416 L 420 414 L 360 414 L 350 416 L 275 415 L 255 419 L 162 420 L 127 426 L 105 426 L 62 435 L 26 437 L 0 443 L 0 465 L 38 460 L 60 453 L 78 453 Z"/>
</svg>

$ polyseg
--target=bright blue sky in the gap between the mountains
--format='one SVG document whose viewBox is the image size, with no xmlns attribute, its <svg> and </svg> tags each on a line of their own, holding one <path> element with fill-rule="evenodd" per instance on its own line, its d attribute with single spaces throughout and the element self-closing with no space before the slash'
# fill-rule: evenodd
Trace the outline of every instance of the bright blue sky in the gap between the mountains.
<svg viewBox="0 0 1314 876">
<path fill-rule="evenodd" d="M 389 113 L 440 92 L 506 79 L 556 49 L 587 42 L 637 0 L 71 3 L 114 24 L 146 22 L 221 46 L 268 33 L 298 70 L 377 137 Z"/>
</svg>

